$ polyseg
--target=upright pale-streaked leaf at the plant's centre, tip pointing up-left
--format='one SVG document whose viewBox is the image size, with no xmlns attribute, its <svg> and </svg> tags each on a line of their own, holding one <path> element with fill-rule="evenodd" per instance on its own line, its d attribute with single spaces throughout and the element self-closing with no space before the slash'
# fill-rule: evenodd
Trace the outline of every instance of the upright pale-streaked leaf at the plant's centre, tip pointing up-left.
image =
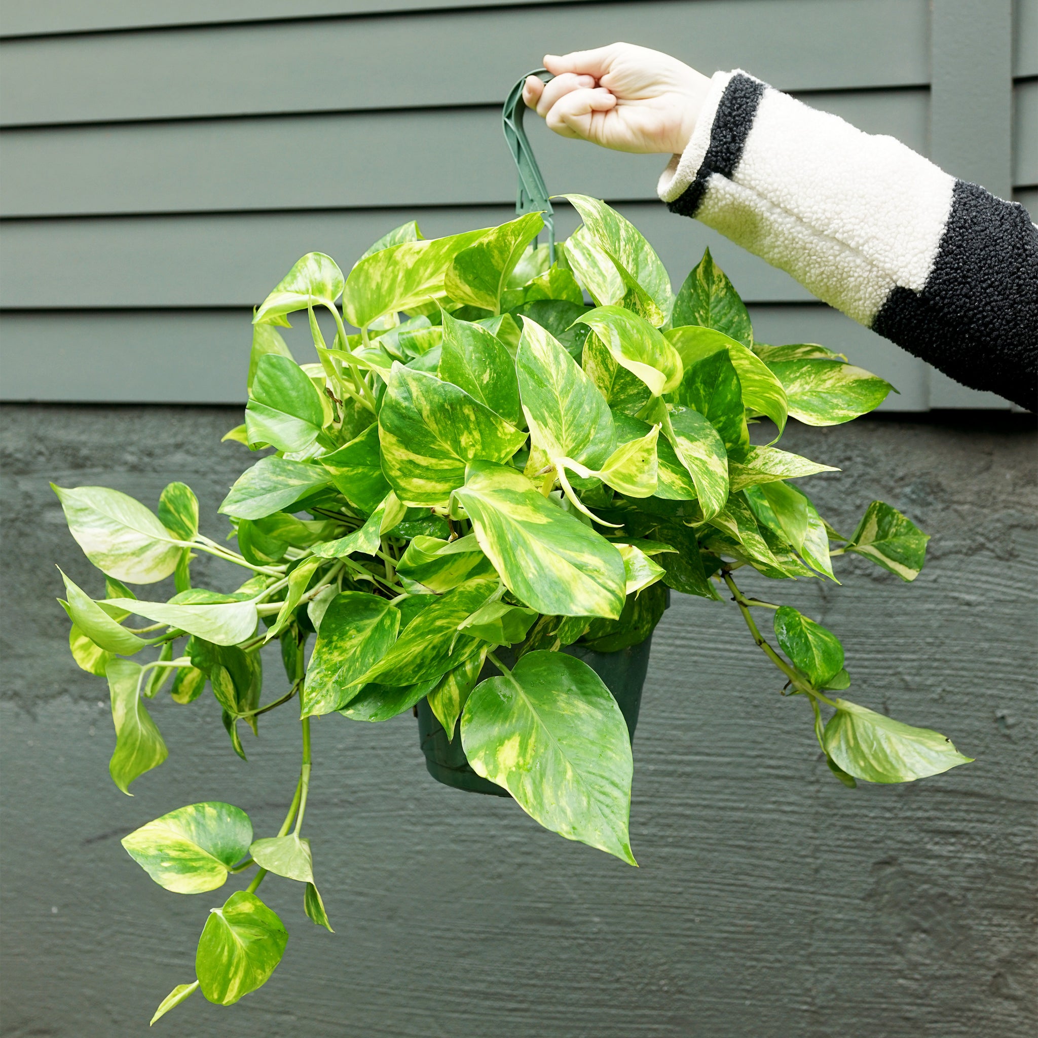
<svg viewBox="0 0 1038 1038">
<path fill-rule="evenodd" d="M 552 463 L 568 458 L 597 468 L 605 461 L 613 439 L 608 404 L 562 345 L 529 320 L 516 371 L 530 436 Z"/>
</svg>

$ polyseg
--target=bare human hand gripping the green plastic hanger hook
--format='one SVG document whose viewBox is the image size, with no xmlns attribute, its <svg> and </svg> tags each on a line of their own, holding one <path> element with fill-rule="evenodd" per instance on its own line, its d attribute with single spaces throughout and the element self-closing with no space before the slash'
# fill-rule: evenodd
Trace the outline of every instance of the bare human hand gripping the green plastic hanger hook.
<svg viewBox="0 0 1038 1038">
<path fill-rule="evenodd" d="M 549 83 L 526 78 L 523 101 L 548 129 L 618 152 L 680 155 L 710 80 L 677 58 L 633 44 L 547 54 Z"/>
</svg>

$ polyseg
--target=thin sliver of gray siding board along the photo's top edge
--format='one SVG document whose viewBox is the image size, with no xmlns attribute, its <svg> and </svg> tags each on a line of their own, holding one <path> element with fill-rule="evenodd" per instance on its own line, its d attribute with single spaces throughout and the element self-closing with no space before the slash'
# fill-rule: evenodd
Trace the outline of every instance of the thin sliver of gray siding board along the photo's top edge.
<svg viewBox="0 0 1038 1038">
<path fill-rule="evenodd" d="M 6 0 L 0 38 L 258 22 L 333 15 L 385 15 L 429 8 L 517 7 L 558 0 Z M 567 0 L 569 3 L 590 0 Z"/>
</svg>

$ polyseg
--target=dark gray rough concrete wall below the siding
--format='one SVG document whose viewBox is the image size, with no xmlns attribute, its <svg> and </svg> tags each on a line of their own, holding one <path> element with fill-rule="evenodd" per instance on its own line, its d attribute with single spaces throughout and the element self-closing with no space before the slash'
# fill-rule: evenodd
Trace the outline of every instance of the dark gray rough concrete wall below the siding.
<svg viewBox="0 0 1038 1038">
<path fill-rule="evenodd" d="M 105 685 L 67 656 L 53 564 L 100 584 L 47 481 L 154 503 L 183 479 L 218 536 L 216 504 L 246 455 L 217 440 L 240 412 L 27 405 L 2 417 L 0 1032 L 144 1035 L 159 1000 L 193 977 L 197 934 L 225 892 L 169 894 L 118 839 L 211 798 L 273 830 L 295 781 L 296 726 L 288 713 L 265 718 L 246 764 L 208 693 L 190 707 L 164 696 L 153 713 L 169 760 L 135 797 L 120 794 L 107 774 Z M 933 540 L 914 584 L 841 559 L 844 586 L 799 582 L 782 600 L 844 639 L 855 699 L 939 728 L 976 764 L 844 789 L 819 760 L 805 705 L 776 694 L 734 608 L 675 596 L 635 741 L 640 869 L 540 829 L 510 801 L 438 786 L 410 716 L 323 719 L 307 824 L 336 934 L 305 920 L 297 884 L 271 877 L 264 897 L 292 933 L 273 979 L 229 1010 L 195 995 L 161 1033 L 1034 1034 L 1032 419 L 791 425 L 784 445 L 844 468 L 812 481 L 838 527 L 882 497 Z M 230 585 L 226 571 L 202 572 Z"/>
</svg>

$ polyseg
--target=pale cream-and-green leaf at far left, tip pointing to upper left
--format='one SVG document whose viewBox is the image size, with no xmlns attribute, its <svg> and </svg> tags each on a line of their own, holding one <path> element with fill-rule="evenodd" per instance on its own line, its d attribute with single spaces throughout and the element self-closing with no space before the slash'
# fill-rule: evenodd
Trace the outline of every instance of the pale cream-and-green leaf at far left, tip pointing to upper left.
<svg viewBox="0 0 1038 1038">
<path fill-rule="evenodd" d="M 107 487 L 65 490 L 51 484 L 69 531 L 102 573 L 131 583 L 155 583 L 176 569 L 181 545 L 149 509 Z"/>
</svg>

